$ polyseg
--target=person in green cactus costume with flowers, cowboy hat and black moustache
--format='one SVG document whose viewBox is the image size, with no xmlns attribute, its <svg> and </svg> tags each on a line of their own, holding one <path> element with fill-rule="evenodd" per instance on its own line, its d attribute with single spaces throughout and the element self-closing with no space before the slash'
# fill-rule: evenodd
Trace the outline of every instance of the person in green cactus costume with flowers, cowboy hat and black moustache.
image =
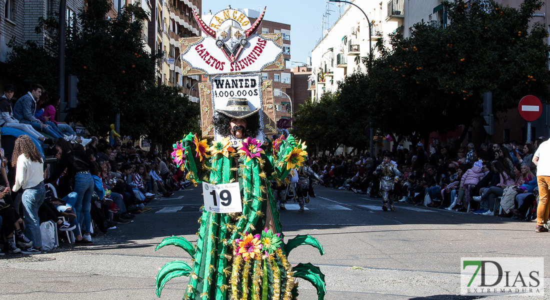
<svg viewBox="0 0 550 300">
<path fill-rule="evenodd" d="M 317 239 L 299 235 L 284 242 L 282 225 L 270 182 L 284 183 L 289 171 L 302 165 L 306 145 L 292 135 L 261 143 L 255 139 L 260 128 L 259 110 L 246 99 L 230 99 L 225 110 L 213 116 L 221 139 L 207 145 L 197 135 L 188 134 L 174 145 L 172 156 L 188 170 L 188 179 L 223 184 L 239 182 L 242 212 L 214 213 L 203 210 L 197 243 L 183 237 L 165 238 L 156 250 L 174 245 L 191 255 L 184 261 L 164 265 L 156 277 L 157 296 L 164 284 L 178 276 L 189 276 L 184 299 L 210 300 L 292 300 L 298 297 L 295 278 L 310 281 L 324 299 L 321 270 L 310 263 L 290 265 L 287 256 L 297 246 L 309 244 L 324 254 Z"/>
</svg>

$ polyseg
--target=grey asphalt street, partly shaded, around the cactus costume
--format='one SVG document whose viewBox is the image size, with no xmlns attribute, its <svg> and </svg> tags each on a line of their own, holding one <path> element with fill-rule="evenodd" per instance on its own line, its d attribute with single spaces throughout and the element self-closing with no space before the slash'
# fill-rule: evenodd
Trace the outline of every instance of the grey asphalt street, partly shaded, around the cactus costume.
<svg viewBox="0 0 550 300">
<path fill-rule="evenodd" d="M 477 299 L 459 296 L 461 257 L 544 257 L 550 233 L 534 222 L 396 204 L 382 211 L 380 199 L 315 186 L 317 198 L 299 212 L 281 211 L 285 238 L 311 234 L 326 252 L 301 246 L 291 264 L 312 263 L 326 275 L 325 299 Z M 202 188 L 189 187 L 169 199 L 153 200 L 151 211 L 134 222 L 99 233 L 94 246 L 70 247 L 40 255 L 0 257 L 0 299 L 154 299 L 155 275 L 167 261 L 190 257 L 177 247 L 155 247 L 164 237 L 196 242 Z M 549 262 L 544 297 L 550 299 Z M 181 299 L 187 277 L 171 280 L 161 299 Z M 317 299 L 300 280 L 299 299 Z"/>
</svg>

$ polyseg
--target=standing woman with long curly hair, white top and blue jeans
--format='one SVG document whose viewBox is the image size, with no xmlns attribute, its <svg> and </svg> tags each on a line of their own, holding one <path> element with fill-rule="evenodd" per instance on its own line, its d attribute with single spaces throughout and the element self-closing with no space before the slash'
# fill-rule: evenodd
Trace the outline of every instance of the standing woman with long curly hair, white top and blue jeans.
<svg viewBox="0 0 550 300">
<path fill-rule="evenodd" d="M 40 217 L 38 208 L 44 202 L 46 190 L 44 189 L 44 163 L 28 135 L 21 135 L 15 140 L 13 148 L 12 167 L 16 167 L 15 183 L 13 191 L 23 188 L 23 216 L 25 220 L 25 233 L 30 237 L 32 246 L 24 249 L 24 254 L 42 253 L 42 234 L 40 233 Z"/>
</svg>

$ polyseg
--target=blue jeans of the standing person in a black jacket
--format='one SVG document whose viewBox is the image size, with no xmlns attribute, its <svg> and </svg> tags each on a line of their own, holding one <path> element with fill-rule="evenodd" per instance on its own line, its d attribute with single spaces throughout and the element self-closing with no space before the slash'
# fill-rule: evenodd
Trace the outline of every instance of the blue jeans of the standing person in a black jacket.
<svg viewBox="0 0 550 300">
<path fill-rule="evenodd" d="M 92 222 L 92 216 L 90 215 L 90 202 L 92 201 L 92 194 L 94 193 L 94 179 L 92 179 L 90 173 L 75 175 L 74 191 L 77 194 L 76 202 L 74 204 L 76 221 L 79 225 L 83 226 L 82 231 L 90 232 Z M 81 234 L 78 226 L 75 230 L 77 235 Z"/>
</svg>

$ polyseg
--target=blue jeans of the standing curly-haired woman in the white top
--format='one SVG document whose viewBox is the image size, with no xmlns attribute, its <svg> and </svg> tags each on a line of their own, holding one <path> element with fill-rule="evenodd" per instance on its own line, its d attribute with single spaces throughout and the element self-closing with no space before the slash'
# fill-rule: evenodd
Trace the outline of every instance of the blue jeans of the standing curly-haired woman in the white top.
<svg viewBox="0 0 550 300">
<path fill-rule="evenodd" d="M 44 183 L 23 190 L 21 202 L 23 203 L 23 218 L 25 220 L 25 235 L 31 239 L 32 246 L 42 247 L 42 234 L 40 233 L 40 218 L 38 217 L 38 208 L 44 202 L 46 190 Z"/>
</svg>

